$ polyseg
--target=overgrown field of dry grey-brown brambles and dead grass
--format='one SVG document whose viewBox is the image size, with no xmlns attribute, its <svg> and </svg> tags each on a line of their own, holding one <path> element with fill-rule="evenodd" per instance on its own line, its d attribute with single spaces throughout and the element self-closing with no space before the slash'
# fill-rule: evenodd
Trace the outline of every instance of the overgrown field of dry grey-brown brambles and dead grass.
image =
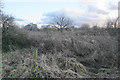
<svg viewBox="0 0 120 80">
<path fill-rule="evenodd" d="M 13 41 L 7 42 L 13 43 L 10 49 L 3 44 L 4 78 L 118 77 L 117 29 L 21 31 L 25 37 L 12 35 Z M 3 40 L 7 38 L 3 36 Z M 14 44 L 14 39 L 23 44 L 22 48 Z"/>
</svg>

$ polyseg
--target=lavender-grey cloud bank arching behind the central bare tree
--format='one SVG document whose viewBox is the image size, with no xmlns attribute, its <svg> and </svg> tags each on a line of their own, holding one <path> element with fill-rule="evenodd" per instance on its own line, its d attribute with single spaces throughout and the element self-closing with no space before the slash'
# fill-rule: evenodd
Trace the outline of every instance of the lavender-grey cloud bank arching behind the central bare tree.
<svg viewBox="0 0 120 80">
<path fill-rule="evenodd" d="M 99 18 L 95 13 L 87 13 L 83 10 L 65 8 L 59 11 L 48 12 L 44 14 L 45 18 L 42 19 L 43 23 L 54 24 L 52 22 L 53 16 L 65 15 L 73 20 L 73 24 L 81 26 L 84 23 L 90 24 L 92 21 Z"/>
</svg>

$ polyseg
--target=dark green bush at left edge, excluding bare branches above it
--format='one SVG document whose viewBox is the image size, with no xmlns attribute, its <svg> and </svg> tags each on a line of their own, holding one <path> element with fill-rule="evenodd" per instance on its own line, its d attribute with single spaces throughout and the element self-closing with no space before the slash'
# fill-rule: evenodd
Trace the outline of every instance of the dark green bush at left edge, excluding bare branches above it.
<svg viewBox="0 0 120 80">
<path fill-rule="evenodd" d="M 25 32 L 15 27 L 8 27 L 2 36 L 2 51 L 8 52 L 21 49 L 30 45 Z"/>
</svg>

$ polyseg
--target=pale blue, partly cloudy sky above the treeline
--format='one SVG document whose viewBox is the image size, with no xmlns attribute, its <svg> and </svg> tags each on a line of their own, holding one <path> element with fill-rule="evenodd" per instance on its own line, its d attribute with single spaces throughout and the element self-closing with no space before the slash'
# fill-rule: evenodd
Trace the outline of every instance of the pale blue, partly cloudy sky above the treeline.
<svg viewBox="0 0 120 80">
<path fill-rule="evenodd" d="M 119 0 L 2 0 L 4 13 L 12 15 L 19 24 L 30 22 L 49 24 L 52 15 L 64 13 L 74 25 L 88 23 L 102 26 L 118 15 Z"/>
</svg>

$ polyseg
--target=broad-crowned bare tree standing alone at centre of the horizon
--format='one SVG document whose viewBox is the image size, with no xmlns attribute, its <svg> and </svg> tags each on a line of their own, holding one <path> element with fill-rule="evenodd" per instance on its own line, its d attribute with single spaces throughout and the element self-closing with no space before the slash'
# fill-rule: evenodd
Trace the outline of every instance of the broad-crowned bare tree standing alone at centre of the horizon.
<svg viewBox="0 0 120 80">
<path fill-rule="evenodd" d="M 53 16 L 53 23 L 59 25 L 60 29 L 62 29 L 72 26 L 73 21 L 65 15 L 58 15 Z"/>
</svg>

